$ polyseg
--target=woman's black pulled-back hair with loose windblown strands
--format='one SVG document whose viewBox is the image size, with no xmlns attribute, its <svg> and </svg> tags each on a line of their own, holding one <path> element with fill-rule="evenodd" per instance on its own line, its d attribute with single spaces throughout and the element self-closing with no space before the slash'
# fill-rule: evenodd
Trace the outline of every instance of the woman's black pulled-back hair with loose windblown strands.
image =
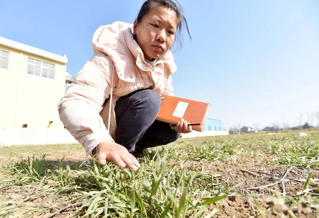
<svg viewBox="0 0 319 218">
<path fill-rule="evenodd" d="M 177 0 L 175 1 L 177 4 L 173 0 L 147 0 L 143 3 L 140 11 L 138 12 L 136 19 L 137 19 L 137 25 L 138 25 L 141 22 L 144 15 L 150 12 L 156 6 L 162 6 L 169 10 L 175 11 L 177 15 L 177 19 L 178 19 L 175 39 L 176 38 L 178 39 L 178 44 L 181 49 L 183 45 L 183 40 L 184 40 L 184 37 L 182 35 L 182 27 L 184 25 L 186 26 L 187 33 L 189 35 L 190 40 L 192 40 L 192 37 L 190 36 L 190 33 L 189 33 L 187 21 L 186 21 L 186 18 L 184 17 L 182 6 L 181 4 L 179 4 Z M 133 36 L 134 36 L 134 39 L 136 40 L 135 33 Z"/>
</svg>

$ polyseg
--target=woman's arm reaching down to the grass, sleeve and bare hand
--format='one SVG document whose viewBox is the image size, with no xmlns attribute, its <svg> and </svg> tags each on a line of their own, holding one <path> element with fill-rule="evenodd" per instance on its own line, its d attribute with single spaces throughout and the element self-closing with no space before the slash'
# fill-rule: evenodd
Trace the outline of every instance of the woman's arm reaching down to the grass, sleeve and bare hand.
<svg viewBox="0 0 319 218">
<path fill-rule="evenodd" d="M 114 142 L 100 116 L 102 105 L 111 92 L 113 69 L 114 64 L 107 55 L 95 52 L 61 99 L 58 105 L 60 120 L 84 146 L 86 156 L 94 154 L 102 165 L 113 161 L 118 166 L 137 170 L 140 167 L 137 159 Z M 113 85 L 116 83 L 114 74 Z M 92 152 L 93 149 L 96 152 Z"/>
</svg>

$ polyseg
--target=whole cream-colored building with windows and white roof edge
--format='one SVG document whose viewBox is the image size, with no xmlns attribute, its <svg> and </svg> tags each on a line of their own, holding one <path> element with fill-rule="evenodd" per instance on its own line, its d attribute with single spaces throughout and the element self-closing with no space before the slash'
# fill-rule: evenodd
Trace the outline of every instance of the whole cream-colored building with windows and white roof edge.
<svg viewBox="0 0 319 218">
<path fill-rule="evenodd" d="M 57 105 L 71 82 L 67 62 L 0 37 L 0 128 L 63 129 Z"/>
</svg>

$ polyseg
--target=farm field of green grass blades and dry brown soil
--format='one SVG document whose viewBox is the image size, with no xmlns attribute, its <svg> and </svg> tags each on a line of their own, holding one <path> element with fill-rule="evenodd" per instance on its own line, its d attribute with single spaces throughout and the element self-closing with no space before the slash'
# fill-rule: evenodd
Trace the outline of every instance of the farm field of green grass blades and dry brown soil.
<svg viewBox="0 0 319 218">
<path fill-rule="evenodd" d="M 0 149 L 0 217 L 318 217 L 319 130 L 180 138 L 140 173 L 81 145 Z"/>
</svg>

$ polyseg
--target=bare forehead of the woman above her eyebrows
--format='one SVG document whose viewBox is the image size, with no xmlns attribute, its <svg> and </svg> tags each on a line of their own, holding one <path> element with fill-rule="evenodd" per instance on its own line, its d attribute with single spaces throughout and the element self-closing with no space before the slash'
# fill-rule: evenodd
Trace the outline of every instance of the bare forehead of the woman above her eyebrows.
<svg viewBox="0 0 319 218">
<path fill-rule="evenodd" d="M 161 6 L 155 6 L 150 12 L 145 14 L 146 19 L 152 19 L 160 23 L 164 23 L 174 29 L 177 28 L 177 14 L 173 10 Z"/>
</svg>

